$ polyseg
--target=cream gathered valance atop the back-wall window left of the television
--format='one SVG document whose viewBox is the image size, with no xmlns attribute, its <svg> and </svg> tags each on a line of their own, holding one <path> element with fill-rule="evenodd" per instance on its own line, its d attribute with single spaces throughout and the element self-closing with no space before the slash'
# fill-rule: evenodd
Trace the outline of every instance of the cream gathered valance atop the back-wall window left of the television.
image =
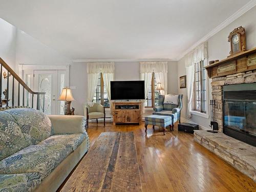
<svg viewBox="0 0 256 192">
<path fill-rule="evenodd" d="M 87 73 L 115 73 L 114 62 L 88 62 Z"/>
</svg>

